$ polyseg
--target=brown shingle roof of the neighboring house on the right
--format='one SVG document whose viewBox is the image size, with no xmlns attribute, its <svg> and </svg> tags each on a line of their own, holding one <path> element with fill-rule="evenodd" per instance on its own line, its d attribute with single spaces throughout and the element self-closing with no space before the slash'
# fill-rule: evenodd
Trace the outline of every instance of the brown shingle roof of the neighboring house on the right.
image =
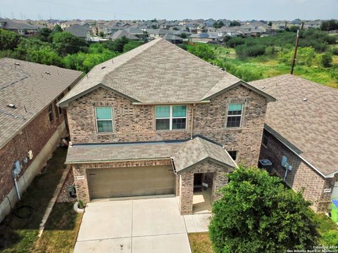
<svg viewBox="0 0 338 253">
<path fill-rule="evenodd" d="M 291 74 L 250 84 L 277 98 L 268 103 L 265 129 L 323 176 L 337 173 L 338 89 Z"/>
</svg>

